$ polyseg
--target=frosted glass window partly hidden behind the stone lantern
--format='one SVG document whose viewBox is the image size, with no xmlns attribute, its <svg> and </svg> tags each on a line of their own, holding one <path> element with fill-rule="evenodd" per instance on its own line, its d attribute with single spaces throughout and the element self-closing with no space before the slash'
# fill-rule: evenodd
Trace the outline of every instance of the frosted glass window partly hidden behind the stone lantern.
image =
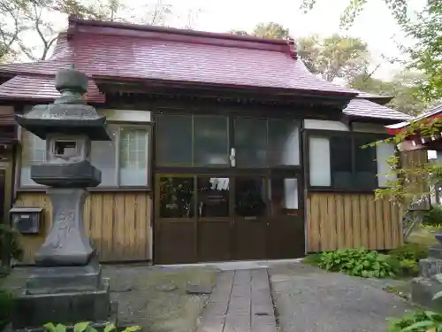
<svg viewBox="0 0 442 332">
<path fill-rule="evenodd" d="M 148 187 L 150 127 L 109 125 L 108 130 L 111 141 L 91 143 L 91 164 L 102 172 L 99 187 Z M 21 187 L 40 186 L 31 180 L 30 167 L 45 157 L 45 141 L 23 130 Z"/>
</svg>

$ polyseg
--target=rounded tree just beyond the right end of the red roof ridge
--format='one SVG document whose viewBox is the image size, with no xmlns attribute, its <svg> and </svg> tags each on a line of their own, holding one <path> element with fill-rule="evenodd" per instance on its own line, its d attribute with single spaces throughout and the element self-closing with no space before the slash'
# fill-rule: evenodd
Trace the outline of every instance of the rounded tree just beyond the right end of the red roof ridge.
<svg viewBox="0 0 442 332">
<path fill-rule="evenodd" d="M 367 71 L 370 51 L 359 38 L 331 35 L 324 40 L 317 36 L 301 38 L 298 54 L 312 73 L 320 73 L 327 81 L 336 78 L 351 81 Z"/>
</svg>

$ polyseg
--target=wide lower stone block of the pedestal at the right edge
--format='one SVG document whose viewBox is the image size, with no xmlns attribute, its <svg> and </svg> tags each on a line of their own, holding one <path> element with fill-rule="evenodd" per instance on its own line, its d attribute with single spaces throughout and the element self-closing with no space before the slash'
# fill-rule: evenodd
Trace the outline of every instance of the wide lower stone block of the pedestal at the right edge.
<svg viewBox="0 0 442 332">
<path fill-rule="evenodd" d="M 442 283 L 417 277 L 413 279 L 411 284 L 411 300 L 433 310 L 442 310 L 442 298 L 433 300 L 434 295 L 441 290 Z"/>
</svg>

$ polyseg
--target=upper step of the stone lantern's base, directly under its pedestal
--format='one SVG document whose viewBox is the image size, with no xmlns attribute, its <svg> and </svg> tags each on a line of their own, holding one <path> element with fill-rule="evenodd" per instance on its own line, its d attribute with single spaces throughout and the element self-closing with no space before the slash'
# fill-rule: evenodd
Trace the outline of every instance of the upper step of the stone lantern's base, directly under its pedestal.
<svg viewBox="0 0 442 332">
<path fill-rule="evenodd" d="M 34 267 L 27 278 L 27 294 L 66 293 L 100 290 L 102 266 L 96 261 L 87 266 Z"/>
</svg>

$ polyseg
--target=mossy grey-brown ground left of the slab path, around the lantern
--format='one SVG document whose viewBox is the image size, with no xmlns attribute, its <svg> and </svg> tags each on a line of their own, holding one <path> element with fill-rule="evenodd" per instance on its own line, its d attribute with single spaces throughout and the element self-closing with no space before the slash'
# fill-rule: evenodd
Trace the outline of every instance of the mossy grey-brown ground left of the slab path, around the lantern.
<svg viewBox="0 0 442 332">
<path fill-rule="evenodd" d="M 21 290 L 27 268 L 15 268 L 4 286 Z M 203 267 L 103 266 L 121 323 L 149 332 L 192 332 L 209 299 L 217 270 Z M 190 292 L 190 293 L 189 293 Z M 191 294 L 192 293 L 192 294 Z"/>
</svg>

